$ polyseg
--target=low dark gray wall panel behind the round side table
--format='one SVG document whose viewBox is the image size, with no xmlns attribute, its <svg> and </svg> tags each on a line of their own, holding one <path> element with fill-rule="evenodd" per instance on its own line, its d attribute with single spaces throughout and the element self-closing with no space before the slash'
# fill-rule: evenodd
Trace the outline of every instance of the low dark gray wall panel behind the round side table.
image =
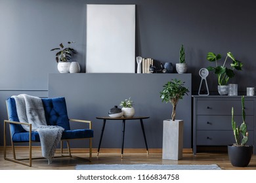
<svg viewBox="0 0 256 183">
<path fill-rule="evenodd" d="M 110 108 L 131 97 L 135 115 L 150 116 L 144 120 L 148 147 L 161 148 L 163 120 L 171 118 L 172 106 L 161 102 L 160 92 L 172 78 L 184 81 L 191 90 L 190 74 L 50 74 L 49 97 L 66 97 L 70 118 L 93 121 L 95 148 L 102 127 L 96 116 L 108 116 Z M 191 93 L 179 101 L 177 119 L 184 120 L 184 147 L 190 148 Z M 144 148 L 139 121 L 127 121 L 125 131 L 125 148 Z M 121 148 L 121 121 L 107 121 L 102 148 Z"/>
</svg>

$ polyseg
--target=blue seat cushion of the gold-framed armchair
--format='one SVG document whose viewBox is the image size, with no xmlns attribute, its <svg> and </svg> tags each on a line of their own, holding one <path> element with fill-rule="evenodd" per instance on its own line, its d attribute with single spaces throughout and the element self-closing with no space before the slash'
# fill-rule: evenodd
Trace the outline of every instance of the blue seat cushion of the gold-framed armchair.
<svg viewBox="0 0 256 183">
<path fill-rule="evenodd" d="M 62 133 L 62 140 L 68 139 L 83 139 L 83 138 L 91 138 L 93 137 L 93 129 L 74 129 L 74 130 L 65 130 Z M 32 131 L 32 141 L 40 142 L 39 133 L 37 131 Z M 20 132 L 14 133 L 12 136 L 13 142 L 28 142 L 30 139 L 29 132 Z"/>
</svg>

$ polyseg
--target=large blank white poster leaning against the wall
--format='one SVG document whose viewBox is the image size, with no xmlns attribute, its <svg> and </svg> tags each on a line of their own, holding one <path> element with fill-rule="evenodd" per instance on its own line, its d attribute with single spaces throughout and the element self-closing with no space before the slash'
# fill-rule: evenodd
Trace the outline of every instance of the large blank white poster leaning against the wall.
<svg viewBox="0 0 256 183">
<path fill-rule="evenodd" d="M 87 5 L 86 73 L 135 73 L 135 5 Z"/>
</svg>

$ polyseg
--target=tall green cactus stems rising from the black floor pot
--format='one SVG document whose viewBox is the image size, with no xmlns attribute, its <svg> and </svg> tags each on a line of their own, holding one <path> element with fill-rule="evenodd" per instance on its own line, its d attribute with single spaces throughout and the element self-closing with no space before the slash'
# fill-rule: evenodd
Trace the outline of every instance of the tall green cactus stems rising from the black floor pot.
<svg viewBox="0 0 256 183">
<path fill-rule="evenodd" d="M 234 137 L 236 140 L 236 146 L 244 146 L 248 141 L 248 132 L 247 132 L 247 125 L 245 124 L 245 110 L 244 110 L 244 95 L 242 96 L 242 120 L 243 123 L 240 125 L 236 125 L 234 121 L 234 108 L 232 107 L 232 129 L 234 131 Z M 243 137 L 241 139 L 241 137 Z"/>
</svg>

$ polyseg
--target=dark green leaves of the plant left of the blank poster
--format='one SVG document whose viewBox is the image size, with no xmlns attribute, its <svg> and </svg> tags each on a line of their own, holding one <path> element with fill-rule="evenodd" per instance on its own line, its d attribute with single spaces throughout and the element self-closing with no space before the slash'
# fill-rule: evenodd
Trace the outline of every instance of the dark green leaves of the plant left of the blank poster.
<svg viewBox="0 0 256 183">
<path fill-rule="evenodd" d="M 75 54 L 75 50 L 73 48 L 70 48 L 70 44 L 74 43 L 74 41 L 68 42 L 68 47 L 64 48 L 63 44 L 60 43 L 60 48 L 53 48 L 51 51 L 54 50 L 60 50 L 56 53 L 56 62 L 68 62 L 72 54 Z"/>
</svg>

